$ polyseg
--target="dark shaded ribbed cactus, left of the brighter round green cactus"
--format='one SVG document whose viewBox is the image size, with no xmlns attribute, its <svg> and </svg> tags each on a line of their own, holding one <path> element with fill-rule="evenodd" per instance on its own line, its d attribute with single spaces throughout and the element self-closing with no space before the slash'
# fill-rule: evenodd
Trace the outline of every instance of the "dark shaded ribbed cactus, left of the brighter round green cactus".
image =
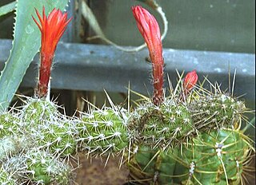
<svg viewBox="0 0 256 185">
<path fill-rule="evenodd" d="M 177 150 L 161 150 L 134 146 L 127 163 L 132 184 L 174 184 L 176 161 L 171 157 Z"/>
</svg>

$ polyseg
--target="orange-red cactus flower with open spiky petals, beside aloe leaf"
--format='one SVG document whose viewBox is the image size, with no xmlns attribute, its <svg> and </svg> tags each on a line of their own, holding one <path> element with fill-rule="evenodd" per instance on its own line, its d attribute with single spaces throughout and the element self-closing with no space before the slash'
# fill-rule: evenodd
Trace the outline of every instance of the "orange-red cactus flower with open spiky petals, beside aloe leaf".
<svg viewBox="0 0 256 185">
<path fill-rule="evenodd" d="M 67 20 L 67 14 L 62 14 L 61 10 L 52 10 L 46 17 L 45 8 L 42 9 L 42 17 L 35 10 L 38 15 L 39 22 L 32 16 L 34 22 L 38 25 L 42 33 L 41 37 L 41 65 L 39 70 L 39 81 L 37 95 L 45 97 L 47 95 L 48 83 L 50 81 L 50 68 L 54 58 L 54 52 L 58 41 L 66 30 L 67 24 L 71 18 Z"/>
</svg>

